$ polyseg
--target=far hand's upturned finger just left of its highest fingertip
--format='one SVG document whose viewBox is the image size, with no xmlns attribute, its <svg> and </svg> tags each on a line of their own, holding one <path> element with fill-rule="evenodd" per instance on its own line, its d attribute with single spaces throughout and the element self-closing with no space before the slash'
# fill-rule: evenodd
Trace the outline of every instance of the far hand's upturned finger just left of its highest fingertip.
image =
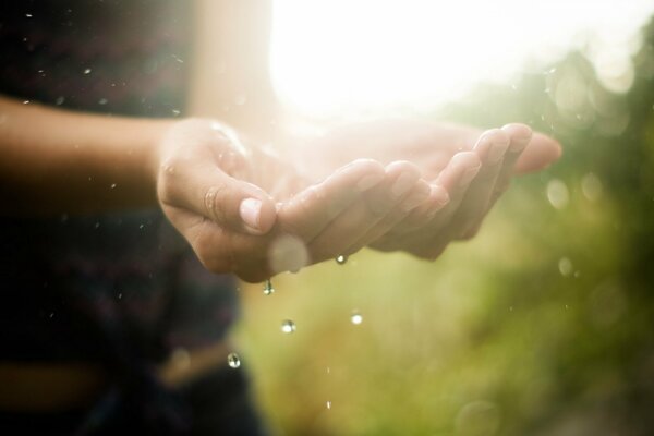
<svg viewBox="0 0 654 436">
<path fill-rule="evenodd" d="M 509 135 L 500 129 L 486 131 L 480 136 L 474 150 L 480 155 L 482 168 L 468 187 L 453 222 L 460 234 L 476 228 L 484 217 L 510 142 Z"/>
</svg>

